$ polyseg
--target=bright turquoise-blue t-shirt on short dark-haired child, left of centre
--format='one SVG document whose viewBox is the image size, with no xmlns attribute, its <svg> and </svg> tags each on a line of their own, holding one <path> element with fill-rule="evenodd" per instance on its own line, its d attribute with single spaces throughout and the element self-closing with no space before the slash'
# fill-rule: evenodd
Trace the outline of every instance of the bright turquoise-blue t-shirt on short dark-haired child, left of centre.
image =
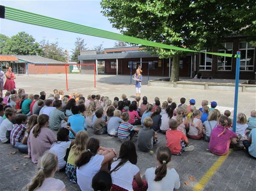
<svg viewBox="0 0 256 191">
<path fill-rule="evenodd" d="M 80 114 L 71 115 L 68 120 L 68 123 L 70 123 L 71 128 L 74 132 L 78 133 L 80 131 L 86 130 L 85 129 L 85 117 Z M 70 138 L 75 138 L 73 133 L 69 132 Z"/>
</svg>

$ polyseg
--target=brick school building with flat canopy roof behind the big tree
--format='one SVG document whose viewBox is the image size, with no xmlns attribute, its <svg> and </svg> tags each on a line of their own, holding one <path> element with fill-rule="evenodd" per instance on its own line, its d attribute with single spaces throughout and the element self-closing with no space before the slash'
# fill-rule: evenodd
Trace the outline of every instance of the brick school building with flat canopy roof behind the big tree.
<svg viewBox="0 0 256 191">
<path fill-rule="evenodd" d="M 213 47 L 209 52 L 236 54 L 241 51 L 240 79 L 255 80 L 255 47 L 245 41 L 244 36 L 227 37 L 221 43 L 222 48 Z M 193 78 L 196 74 L 202 78 L 235 79 L 236 58 L 205 54 L 206 50 L 193 55 L 187 53 L 180 58 L 180 77 Z M 135 73 L 139 64 L 144 75 L 170 77 L 172 59 L 160 59 L 158 55 L 145 52 L 139 46 L 114 47 L 104 49 L 104 54 L 96 50 L 82 50 L 78 56 L 81 64 L 96 63 L 96 73 L 130 75 Z M 92 66 L 81 66 L 81 73 L 93 69 Z"/>
</svg>

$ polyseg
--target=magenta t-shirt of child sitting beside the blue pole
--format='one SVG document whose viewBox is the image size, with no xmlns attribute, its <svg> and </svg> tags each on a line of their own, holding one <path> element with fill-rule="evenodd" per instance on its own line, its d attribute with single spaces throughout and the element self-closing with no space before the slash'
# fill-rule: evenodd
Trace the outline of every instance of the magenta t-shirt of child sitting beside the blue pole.
<svg viewBox="0 0 256 191">
<path fill-rule="evenodd" d="M 211 139 L 209 142 L 209 149 L 212 153 L 216 155 L 226 155 L 228 153 L 229 145 L 231 142 L 231 138 L 237 137 L 237 134 L 226 130 L 226 133 L 218 136 L 224 131 L 224 127 L 218 125 L 217 127 L 213 128 L 213 132 L 211 134 Z"/>
</svg>

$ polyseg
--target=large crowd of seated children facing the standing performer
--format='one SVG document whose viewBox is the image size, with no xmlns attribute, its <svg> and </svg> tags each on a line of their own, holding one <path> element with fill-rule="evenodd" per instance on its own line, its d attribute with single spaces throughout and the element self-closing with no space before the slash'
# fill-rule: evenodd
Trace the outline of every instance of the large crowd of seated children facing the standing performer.
<svg viewBox="0 0 256 191">
<path fill-rule="evenodd" d="M 12 107 L 16 91 L 6 96 L 5 107 L 4 99 L 0 100 L 0 140 L 38 163 L 38 173 L 27 190 L 46 187 L 65 190 L 63 182 L 54 178 L 57 170 L 65 171 L 81 190 L 99 190 L 99 186 L 107 185 L 112 186 L 112 191 L 177 189 L 179 175 L 166 165 L 171 161 L 171 154 L 194 150 L 188 137 L 208 141 L 209 150 L 216 155 L 227 154 L 230 147 L 234 150 L 245 147 L 249 155 L 256 157 L 256 111 L 251 111 L 248 120 L 245 114 L 239 113 L 236 132 L 232 132 L 230 111 L 221 115 L 215 101 L 209 108 L 208 101 L 203 100 L 202 107 L 197 109 L 194 99 L 187 106 L 185 98 L 180 99 L 176 108 L 171 97 L 161 105 L 158 97 L 150 104 L 144 96 L 140 104 L 140 97 L 130 101 L 125 95 L 123 100 L 115 97 L 112 102 L 107 96 L 88 95 L 85 100 L 79 93 L 63 95 L 63 91 L 57 90 L 47 98 L 44 91 L 40 96 L 25 94 L 24 89 L 18 92 L 21 100 L 16 108 Z M 97 135 L 117 137 L 122 142 L 119 157 L 114 159 L 117 157 L 114 149 L 100 146 L 98 139 L 90 138 L 87 128 Z M 53 131 L 57 131 L 57 137 Z M 157 148 L 158 167 L 147 169 L 147 182 L 142 181 L 136 166 L 136 146 L 131 140 L 137 136 L 137 148 L 148 152 L 159 142 L 157 133 L 166 135 L 166 146 Z M 239 141 L 243 141 L 243 146 Z"/>
</svg>

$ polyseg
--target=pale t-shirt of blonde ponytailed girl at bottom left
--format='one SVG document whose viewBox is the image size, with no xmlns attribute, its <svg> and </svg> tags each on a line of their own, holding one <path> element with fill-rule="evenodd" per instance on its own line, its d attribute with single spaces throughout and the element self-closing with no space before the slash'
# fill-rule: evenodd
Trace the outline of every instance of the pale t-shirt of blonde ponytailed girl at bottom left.
<svg viewBox="0 0 256 191">
<path fill-rule="evenodd" d="M 56 178 L 45 178 L 42 186 L 36 191 L 62 191 L 65 188 L 65 184 Z"/>
</svg>

